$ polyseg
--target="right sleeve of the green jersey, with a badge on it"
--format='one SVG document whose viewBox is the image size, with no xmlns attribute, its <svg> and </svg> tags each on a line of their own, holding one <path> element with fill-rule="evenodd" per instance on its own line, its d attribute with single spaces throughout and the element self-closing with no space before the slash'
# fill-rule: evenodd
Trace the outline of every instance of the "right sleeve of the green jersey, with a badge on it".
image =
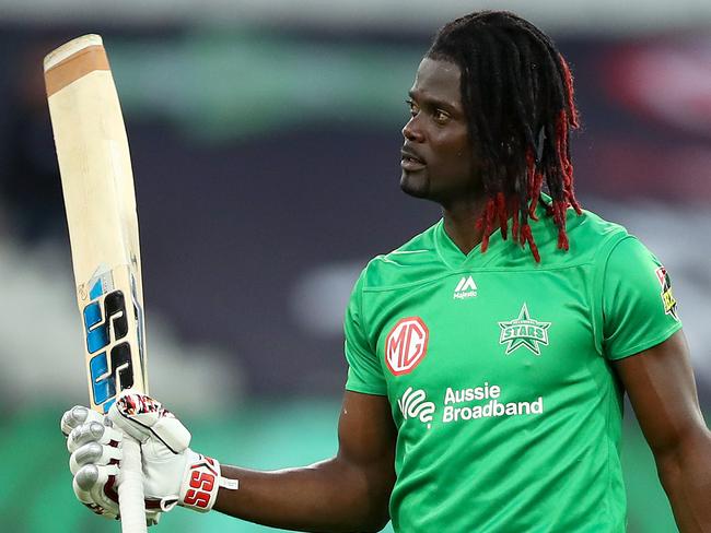
<svg viewBox="0 0 711 533">
<path fill-rule="evenodd" d="M 681 329 L 666 269 L 636 237 L 611 249 L 603 279 L 603 353 L 621 359 Z"/>
</svg>

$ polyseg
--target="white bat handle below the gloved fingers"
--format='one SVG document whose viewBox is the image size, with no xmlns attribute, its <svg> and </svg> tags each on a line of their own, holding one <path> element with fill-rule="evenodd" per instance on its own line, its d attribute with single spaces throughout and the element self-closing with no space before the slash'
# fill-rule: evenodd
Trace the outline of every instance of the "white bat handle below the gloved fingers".
<svg viewBox="0 0 711 533">
<path fill-rule="evenodd" d="M 125 435 L 123 447 L 121 482 L 118 485 L 121 532 L 147 533 L 141 446 L 138 440 Z"/>
</svg>

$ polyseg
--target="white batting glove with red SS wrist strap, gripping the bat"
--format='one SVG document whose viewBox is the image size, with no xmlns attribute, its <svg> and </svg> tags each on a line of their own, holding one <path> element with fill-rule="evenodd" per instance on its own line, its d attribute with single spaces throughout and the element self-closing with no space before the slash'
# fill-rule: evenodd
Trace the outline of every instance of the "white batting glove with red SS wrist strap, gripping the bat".
<svg viewBox="0 0 711 533">
<path fill-rule="evenodd" d="M 103 416 L 88 407 L 65 413 L 70 469 L 77 498 L 94 512 L 119 518 L 124 434 L 141 445 L 143 494 L 149 525 L 176 505 L 207 512 L 220 486 L 235 489 L 236 479 L 220 476 L 220 463 L 188 448 L 190 433 L 162 404 L 144 394 L 123 393 Z"/>
</svg>

